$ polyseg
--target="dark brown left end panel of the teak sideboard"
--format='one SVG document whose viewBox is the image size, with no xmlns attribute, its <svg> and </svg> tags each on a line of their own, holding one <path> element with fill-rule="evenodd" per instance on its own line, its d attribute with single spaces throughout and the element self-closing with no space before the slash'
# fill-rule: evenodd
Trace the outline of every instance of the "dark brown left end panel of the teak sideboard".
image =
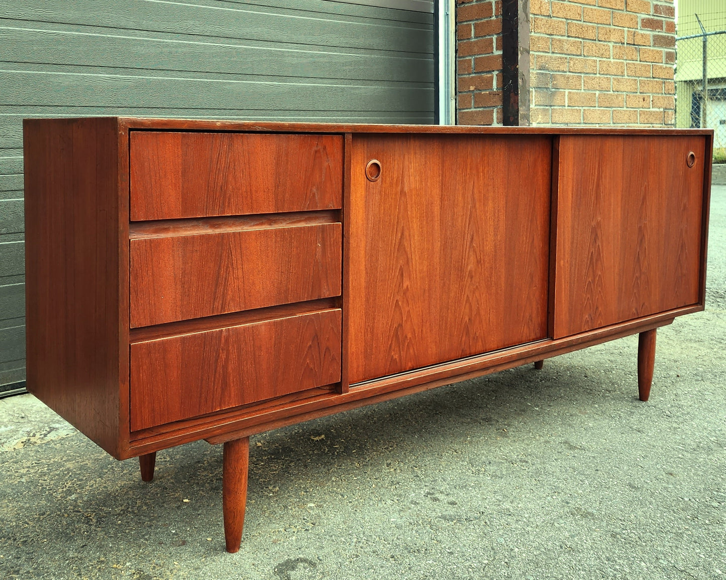
<svg viewBox="0 0 726 580">
<path fill-rule="evenodd" d="M 28 390 L 118 457 L 118 133 L 25 120 Z"/>
</svg>

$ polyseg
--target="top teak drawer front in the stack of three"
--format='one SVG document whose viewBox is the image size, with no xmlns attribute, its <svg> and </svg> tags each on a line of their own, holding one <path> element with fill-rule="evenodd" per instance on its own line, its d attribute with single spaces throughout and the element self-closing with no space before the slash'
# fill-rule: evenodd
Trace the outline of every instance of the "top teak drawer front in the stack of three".
<svg viewBox="0 0 726 580">
<path fill-rule="evenodd" d="M 131 220 L 340 208 L 343 137 L 131 132 Z"/>
</svg>

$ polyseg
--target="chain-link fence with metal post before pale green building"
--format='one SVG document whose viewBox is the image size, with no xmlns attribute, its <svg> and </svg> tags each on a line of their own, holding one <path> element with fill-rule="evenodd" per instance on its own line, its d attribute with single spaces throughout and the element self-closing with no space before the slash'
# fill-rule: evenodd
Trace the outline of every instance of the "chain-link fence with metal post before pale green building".
<svg viewBox="0 0 726 580">
<path fill-rule="evenodd" d="M 676 38 L 676 126 L 714 129 L 714 160 L 725 162 L 726 27 L 722 14 L 716 16 L 678 19 L 679 35 L 696 32 Z M 714 30 L 714 24 L 722 29 Z"/>
</svg>

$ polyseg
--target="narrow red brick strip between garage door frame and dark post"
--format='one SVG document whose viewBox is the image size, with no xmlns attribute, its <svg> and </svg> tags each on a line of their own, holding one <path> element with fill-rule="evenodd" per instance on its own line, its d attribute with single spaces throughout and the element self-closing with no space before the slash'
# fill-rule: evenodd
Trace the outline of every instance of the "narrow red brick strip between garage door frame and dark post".
<svg viewBox="0 0 726 580">
<path fill-rule="evenodd" d="M 457 0 L 457 125 L 502 124 L 502 1 Z"/>
</svg>

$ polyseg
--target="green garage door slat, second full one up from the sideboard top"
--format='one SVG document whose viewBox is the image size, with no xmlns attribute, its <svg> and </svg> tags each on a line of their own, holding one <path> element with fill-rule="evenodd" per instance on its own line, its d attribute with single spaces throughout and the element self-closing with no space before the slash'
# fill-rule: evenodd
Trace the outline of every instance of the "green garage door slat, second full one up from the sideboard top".
<svg viewBox="0 0 726 580">
<path fill-rule="evenodd" d="M 12 21 L 0 27 L 0 43 L 8 62 L 126 68 L 143 64 L 147 70 L 219 72 L 224 75 L 270 75 L 292 78 L 337 78 L 431 83 L 433 61 L 427 55 L 324 46 L 188 38 L 177 35 L 126 33 L 98 27 L 60 25 L 28 29 Z M 89 44 L 94 47 L 89 51 Z"/>
</svg>

